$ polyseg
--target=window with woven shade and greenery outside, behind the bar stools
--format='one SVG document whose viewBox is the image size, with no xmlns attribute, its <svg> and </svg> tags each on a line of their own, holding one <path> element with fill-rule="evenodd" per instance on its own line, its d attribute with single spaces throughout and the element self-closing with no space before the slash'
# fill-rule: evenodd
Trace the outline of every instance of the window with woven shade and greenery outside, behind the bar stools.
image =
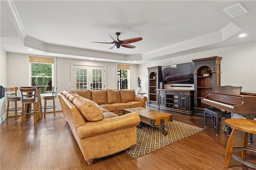
<svg viewBox="0 0 256 170">
<path fill-rule="evenodd" d="M 30 63 L 30 85 L 46 86 L 40 88 L 40 93 L 52 91 L 54 59 L 45 57 L 29 56 Z"/>
</svg>

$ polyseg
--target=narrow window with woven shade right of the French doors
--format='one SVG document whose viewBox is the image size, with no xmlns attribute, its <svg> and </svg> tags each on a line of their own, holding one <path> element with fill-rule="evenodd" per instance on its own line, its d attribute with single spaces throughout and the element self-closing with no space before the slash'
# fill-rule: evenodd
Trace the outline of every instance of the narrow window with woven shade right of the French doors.
<svg viewBox="0 0 256 170">
<path fill-rule="evenodd" d="M 117 66 L 118 89 L 129 89 L 130 65 Z"/>
</svg>

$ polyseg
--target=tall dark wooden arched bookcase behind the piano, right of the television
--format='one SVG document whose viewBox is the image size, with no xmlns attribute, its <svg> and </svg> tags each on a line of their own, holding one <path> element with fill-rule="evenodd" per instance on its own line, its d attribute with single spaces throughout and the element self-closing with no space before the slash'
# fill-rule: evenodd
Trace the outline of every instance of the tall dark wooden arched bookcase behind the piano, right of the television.
<svg viewBox="0 0 256 170">
<path fill-rule="evenodd" d="M 194 59 L 194 115 L 204 116 L 204 108 L 209 105 L 201 103 L 201 98 L 206 96 L 206 91 L 215 91 L 220 86 L 220 61 L 222 57 L 214 56 L 202 59 Z M 209 76 L 203 76 L 201 72 L 211 70 Z"/>
</svg>

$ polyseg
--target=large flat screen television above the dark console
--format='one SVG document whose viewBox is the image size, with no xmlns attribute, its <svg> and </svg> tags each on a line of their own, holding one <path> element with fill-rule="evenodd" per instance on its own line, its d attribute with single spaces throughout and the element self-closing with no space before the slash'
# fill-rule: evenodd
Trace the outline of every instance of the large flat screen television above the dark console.
<svg viewBox="0 0 256 170">
<path fill-rule="evenodd" d="M 194 84 L 193 63 L 182 63 L 162 67 L 164 84 L 186 83 Z"/>
</svg>

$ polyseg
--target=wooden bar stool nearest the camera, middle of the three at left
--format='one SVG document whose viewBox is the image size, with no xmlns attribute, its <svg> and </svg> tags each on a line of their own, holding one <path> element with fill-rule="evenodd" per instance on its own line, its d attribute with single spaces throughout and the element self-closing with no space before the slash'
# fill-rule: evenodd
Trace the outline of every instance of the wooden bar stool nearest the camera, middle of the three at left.
<svg viewBox="0 0 256 170">
<path fill-rule="evenodd" d="M 21 111 L 21 121 L 20 125 L 23 125 L 23 122 L 28 119 L 30 114 L 34 115 L 34 123 L 39 119 L 38 116 L 38 98 L 36 97 L 37 87 L 20 87 L 20 92 L 22 95 L 22 111 Z M 31 112 L 33 104 L 33 112 Z M 26 115 L 26 116 L 25 116 Z"/>
</svg>

